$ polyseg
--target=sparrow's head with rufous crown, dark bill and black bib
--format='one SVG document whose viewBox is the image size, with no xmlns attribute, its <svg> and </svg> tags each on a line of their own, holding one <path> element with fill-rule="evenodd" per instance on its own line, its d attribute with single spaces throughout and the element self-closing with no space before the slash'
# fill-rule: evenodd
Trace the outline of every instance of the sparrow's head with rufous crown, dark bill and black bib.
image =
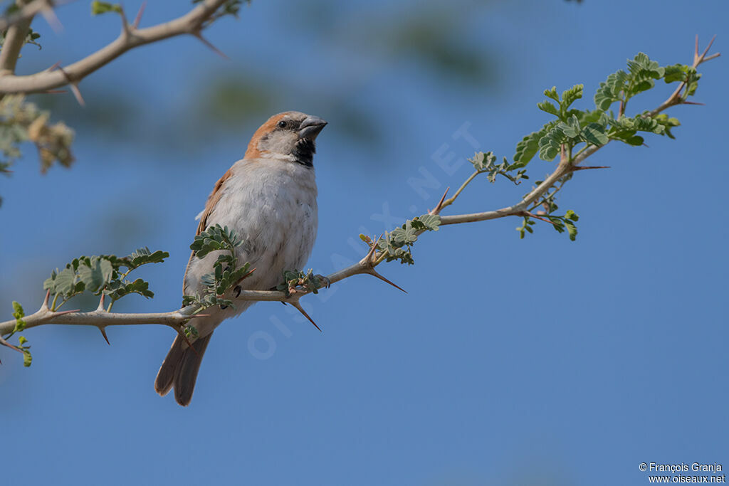
<svg viewBox="0 0 729 486">
<path fill-rule="evenodd" d="M 245 158 L 281 158 L 311 167 L 314 141 L 324 125 L 323 119 L 300 111 L 275 114 L 253 134 Z"/>
</svg>

